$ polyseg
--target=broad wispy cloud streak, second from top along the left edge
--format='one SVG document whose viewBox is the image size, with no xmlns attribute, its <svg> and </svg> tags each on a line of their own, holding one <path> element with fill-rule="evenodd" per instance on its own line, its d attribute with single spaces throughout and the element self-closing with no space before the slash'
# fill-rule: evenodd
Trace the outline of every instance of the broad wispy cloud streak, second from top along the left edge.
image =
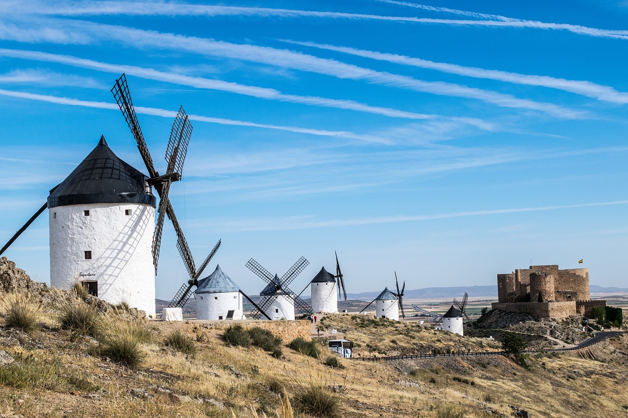
<svg viewBox="0 0 628 418">
<path fill-rule="evenodd" d="M 568 109 L 551 103 L 519 99 L 509 94 L 501 94 L 455 83 L 418 80 L 404 75 L 380 72 L 371 70 L 370 68 L 338 62 L 337 60 L 319 58 L 313 55 L 306 55 L 290 50 L 280 50 L 268 46 L 242 45 L 216 41 L 209 38 L 145 31 L 125 26 L 97 24 L 86 21 L 44 19 L 37 24 L 41 28 L 40 31 L 42 35 L 40 41 L 54 42 L 54 37 L 46 35 L 47 28 L 68 28 L 70 31 L 83 30 L 84 36 L 82 38 L 92 38 L 92 41 L 95 43 L 117 41 L 123 45 L 131 45 L 136 48 L 161 48 L 165 50 L 176 48 L 178 51 L 185 50 L 201 55 L 220 56 L 263 63 L 342 79 L 360 80 L 377 85 L 404 88 L 416 92 L 482 100 L 501 107 L 538 110 L 566 119 L 587 117 L 586 112 Z M 19 40 L 21 34 L 19 30 L 17 33 L 3 33 L 0 31 L 0 38 Z"/>
</svg>

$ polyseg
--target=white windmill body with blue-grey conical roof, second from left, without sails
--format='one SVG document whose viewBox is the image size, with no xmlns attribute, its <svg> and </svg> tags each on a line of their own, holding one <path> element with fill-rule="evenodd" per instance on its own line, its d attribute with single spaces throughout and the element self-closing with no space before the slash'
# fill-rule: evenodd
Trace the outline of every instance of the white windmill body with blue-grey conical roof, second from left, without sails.
<svg viewBox="0 0 628 418">
<path fill-rule="evenodd" d="M 197 319 L 244 319 L 240 288 L 220 269 L 220 265 L 216 265 L 212 274 L 198 281 L 194 297 Z"/>
</svg>

